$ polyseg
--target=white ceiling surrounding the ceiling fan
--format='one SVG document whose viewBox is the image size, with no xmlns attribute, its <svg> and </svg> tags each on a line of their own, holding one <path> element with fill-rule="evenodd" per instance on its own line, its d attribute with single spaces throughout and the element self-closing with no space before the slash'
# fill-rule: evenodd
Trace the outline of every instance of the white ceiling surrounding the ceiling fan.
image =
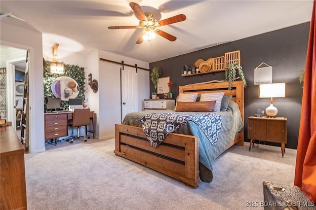
<svg viewBox="0 0 316 210">
<path fill-rule="evenodd" d="M 157 20 L 185 14 L 183 22 L 159 27 L 177 40 L 156 36 L 136 44 L 142 29 L 108 29 L 138 25 L 129 2 Z M 26 21 L 7 17 L 1 23 L 42 33 L 45 59 L 51 59 L 52 46 L 59 43 L 59 60 L 72 52 L 101 49 L 151 63 L 309 22 L 313 0 L 1 0 L 0 6 L 1 14 L 12 12 Z"/>
</svg>

